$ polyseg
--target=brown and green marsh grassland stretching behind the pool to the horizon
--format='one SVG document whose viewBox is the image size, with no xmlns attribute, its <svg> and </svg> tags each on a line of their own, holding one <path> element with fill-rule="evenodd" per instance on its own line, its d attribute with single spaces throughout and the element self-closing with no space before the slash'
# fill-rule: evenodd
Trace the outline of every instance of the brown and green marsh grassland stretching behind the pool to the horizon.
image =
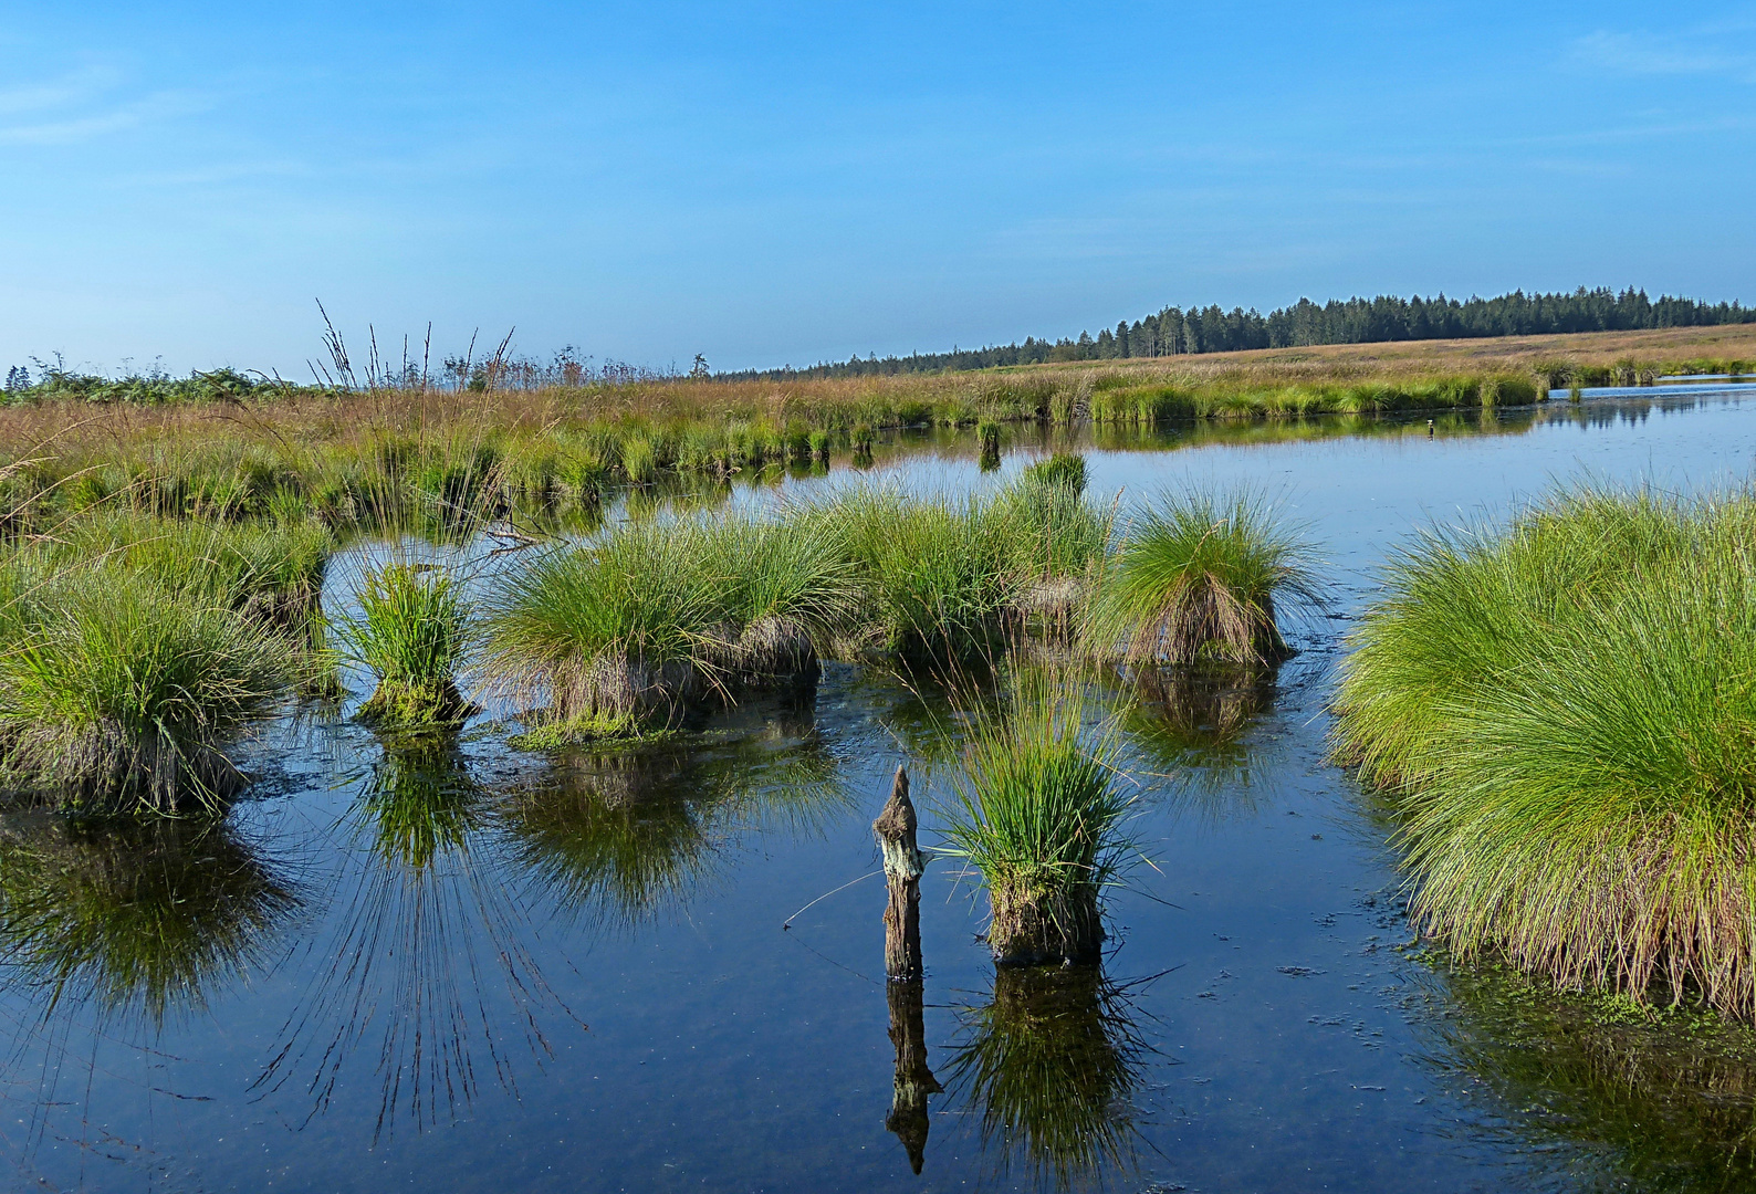
<svg viewBox="0 0 1756 1194">
<path fill-rule="evenodd" d="M 12 529 L 98 504 L 158 514 L 328 521 L 399 486 L 579 500 L 658 474 L 729 476 L 869 457 L 883 428 L 1278 421 L 1524 406 L 1579 385 L 1756 370 L 1756 325 L 1282 348 L 839 379 L 646 379 L 481 388 L 279 386 L 139 402 L 28 397 L 0 407 Z M 1558 393 L 1559 397 L 1559 393 Z M 421 472 L 425 471 L 425 472 Z M 421 479 L 414 481 L 416 474 Z M 30 516 L 26 516 L 30 514 Z"/>
</svg>

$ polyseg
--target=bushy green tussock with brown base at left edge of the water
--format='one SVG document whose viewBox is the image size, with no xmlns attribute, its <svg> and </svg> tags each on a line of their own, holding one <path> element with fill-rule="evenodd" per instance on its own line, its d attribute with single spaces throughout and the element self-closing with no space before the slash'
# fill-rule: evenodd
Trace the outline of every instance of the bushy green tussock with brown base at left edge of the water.
<svg viewBox="0 0 1756 1194">
<path fill-rule="evenodd" d="M 114 565 L 26 585 L 0 653 L 0 769 L 90 811 L 216 804 L 225 746 L 297 673 L 260 620 Z"/>
</svg>

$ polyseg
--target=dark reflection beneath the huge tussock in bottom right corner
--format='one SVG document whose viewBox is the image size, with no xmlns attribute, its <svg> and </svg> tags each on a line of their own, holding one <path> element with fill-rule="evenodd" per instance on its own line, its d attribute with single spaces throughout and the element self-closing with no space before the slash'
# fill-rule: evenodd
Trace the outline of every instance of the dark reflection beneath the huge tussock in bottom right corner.
<svg viewBox="0 0 1756 1194">
<path fill-rule="evenodd" d="M 1510 1136 L 1533 1189 L 1756 1187 L 1756 1031 L 1498 966 L 1442 973 L 1454 1015 L 1426 1022 L 1424 1061 L 1493 1090 L 1498 1124 L 1470 1131 Z"/>
</svg>

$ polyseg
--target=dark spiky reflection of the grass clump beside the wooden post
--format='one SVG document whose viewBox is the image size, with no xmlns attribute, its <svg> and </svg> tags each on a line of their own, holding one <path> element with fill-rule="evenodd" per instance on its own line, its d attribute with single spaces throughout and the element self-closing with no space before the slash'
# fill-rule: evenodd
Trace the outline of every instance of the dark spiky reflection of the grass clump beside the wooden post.
<svg viewBox="0 0 1756 1194">
<path fill-rule="evenodd" d="M 1131 1099 L 1152 1052 L 1134 1015 L 1096 966 L 996 971 L 992 999 L 962 1011 L 945 1073 L 999 1175 L 1022 1162 L 1064 1189 L 1133 1161 Z"/>
</svg>

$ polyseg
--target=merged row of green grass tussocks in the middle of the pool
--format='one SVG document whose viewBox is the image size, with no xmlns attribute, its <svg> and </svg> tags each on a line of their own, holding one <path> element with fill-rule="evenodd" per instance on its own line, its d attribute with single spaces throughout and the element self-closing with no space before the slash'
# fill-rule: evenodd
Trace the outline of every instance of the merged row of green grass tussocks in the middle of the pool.
<svg viewBox="0 0 1756 1194">
<path fill-rule="evenodd" d="M 1108 521 L 1061 481 L 990 497 L 859 486 L 773 518 L 637 520 L 513 574 L 486 673 L 529 709 L 523 743 L 674 729 L 748 685 L 815 680 L 829 653 L 961 660 L 1089 586 Z"/>
</svg>

